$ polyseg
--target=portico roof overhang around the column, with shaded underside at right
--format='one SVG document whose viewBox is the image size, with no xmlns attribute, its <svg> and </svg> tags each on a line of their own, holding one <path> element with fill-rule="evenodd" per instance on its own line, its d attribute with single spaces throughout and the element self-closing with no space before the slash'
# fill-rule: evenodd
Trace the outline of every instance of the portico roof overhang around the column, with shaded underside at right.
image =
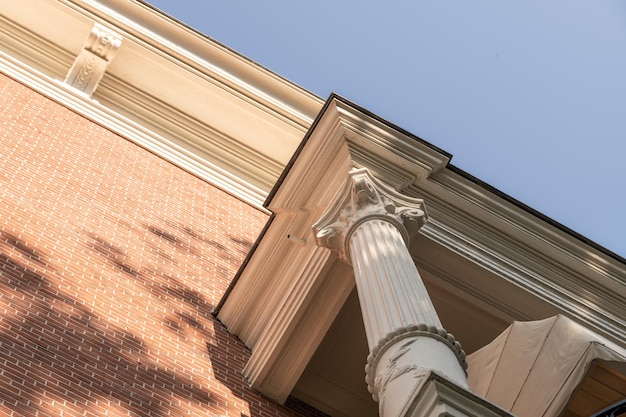
<svg viewBox="0 0 626 417">
<path fill-rule="evenodd" d="M 217 309 L 229 331 L 252 350 L 245 374 L 253 387 L 282 402 L 312 358 L 317 360 L 320 346 L 340 345 L 325 337 L 337 335 L 329 329 L 353 298 L 353 275 L 316 246 L 312 225 L 355 167 L 424 199 L 430 220 L 412 256 L 446 329 L 467 351 L 488 343 L 513 320 L 558 313 L 624 343 L 624 264 L 449 160 L 449 154 L 353 103 L 329 98 L 266 202 L 271 224 Z M 344 415 L 318 401 L 311 402 Z"/>
</svg>

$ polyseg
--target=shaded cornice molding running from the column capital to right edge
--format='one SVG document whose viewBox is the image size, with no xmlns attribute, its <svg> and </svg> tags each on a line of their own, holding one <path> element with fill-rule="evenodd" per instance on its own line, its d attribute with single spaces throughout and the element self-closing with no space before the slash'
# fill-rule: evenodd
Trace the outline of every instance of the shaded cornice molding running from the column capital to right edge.
<svg viewBox="0 0 626 417">
<path fill-rule="evenodd" d="M 410 192 L 428 202 L 422 235 L 626 343 L 626 265 L 449 170 Z"/>
</svg>

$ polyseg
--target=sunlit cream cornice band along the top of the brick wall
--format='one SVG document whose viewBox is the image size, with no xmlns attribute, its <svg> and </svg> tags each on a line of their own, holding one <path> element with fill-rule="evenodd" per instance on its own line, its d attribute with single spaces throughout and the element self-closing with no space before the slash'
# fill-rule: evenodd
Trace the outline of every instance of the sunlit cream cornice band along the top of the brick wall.
<svg viewBox="0 0 626 417">
<path fill-rule="evenodd" d="M 22 0 L 0 16 L 5 73 L 257 207 L 323 104 L 141 2 Z M 122 43 L 90 100 L 61 81 L 94 24 Z"/>
</svg>

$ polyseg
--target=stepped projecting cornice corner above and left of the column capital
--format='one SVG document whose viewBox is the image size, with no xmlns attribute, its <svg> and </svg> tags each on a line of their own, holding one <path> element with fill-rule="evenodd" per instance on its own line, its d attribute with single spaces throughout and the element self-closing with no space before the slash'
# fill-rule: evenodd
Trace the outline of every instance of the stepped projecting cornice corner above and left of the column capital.
<svg viewBox="0 0 626 417">
<path fill-rule="evenodd" d="M 253 387 L 284 401 L 354 287 L 351 268 L 316 245 L 312 228 L 333 202 L 343 200 L 349 172 L 367 167 L 393 184 L 392 195 L 447 160 L 418 138 L 331 96 L 271 195 L 272 223 L 218 312 L 252 350 L 245 373 Z"/>
</svg>

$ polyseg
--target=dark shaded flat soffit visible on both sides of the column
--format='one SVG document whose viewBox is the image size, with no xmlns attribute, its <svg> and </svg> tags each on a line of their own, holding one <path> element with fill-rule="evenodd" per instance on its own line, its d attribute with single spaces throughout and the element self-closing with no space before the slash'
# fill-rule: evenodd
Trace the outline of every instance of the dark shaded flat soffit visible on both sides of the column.
<svg viewBox="0 0 626 417">
<path fill-rule="evenodd" d="M 491 342 L 513 320 L 535 320 L 558 311 L 423 235 L 412 242 L 411 253 L 443 326 L 468 354 Z M 377 416 L 365 383 L 368 353 L 353 291 L 291 395 L 335 417 Z"/>
</svg>

